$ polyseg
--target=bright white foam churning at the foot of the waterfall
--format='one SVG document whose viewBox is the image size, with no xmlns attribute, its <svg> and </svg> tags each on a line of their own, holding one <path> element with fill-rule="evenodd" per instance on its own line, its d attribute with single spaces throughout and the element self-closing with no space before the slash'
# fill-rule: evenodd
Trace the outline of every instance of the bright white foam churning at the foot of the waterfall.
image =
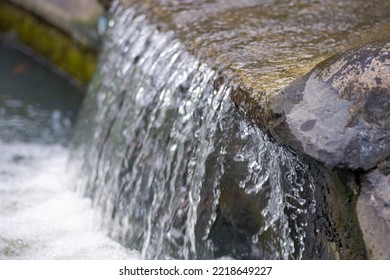
<svg viewBox="0 0 390 280">
<path fill-rule="evenodd" d="M 70 190 L 61 146 L 0 142 L 0 259 L 135 259 Z"/>
</svg>

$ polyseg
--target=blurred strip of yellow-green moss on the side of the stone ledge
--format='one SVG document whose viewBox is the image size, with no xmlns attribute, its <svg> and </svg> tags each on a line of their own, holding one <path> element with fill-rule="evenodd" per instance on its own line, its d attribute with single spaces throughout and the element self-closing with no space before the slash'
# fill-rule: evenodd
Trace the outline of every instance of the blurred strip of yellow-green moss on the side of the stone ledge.
<svg viewBox="0 0 390 280">
<path fill-rule="evenodd" d="M 0 4 L 0 32 L 14 31 L 21 43 L 48 58 L 83 84 L 93 74 L 96 52 L 61 31 L 9 4 Z"/>
</svg>

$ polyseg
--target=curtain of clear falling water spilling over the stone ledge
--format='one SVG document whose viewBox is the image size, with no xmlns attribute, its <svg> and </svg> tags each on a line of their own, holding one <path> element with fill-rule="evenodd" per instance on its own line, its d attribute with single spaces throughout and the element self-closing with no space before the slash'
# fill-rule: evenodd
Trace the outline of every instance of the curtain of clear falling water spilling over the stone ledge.
<svg viewBox="0 0 390 280">
<path fill-rule="evenodd" d="M 317 208 L 308 165 L 172 33 L 132 8 L 111 14 L 71 164 L 102 227 L 144 258 L 302 258 Z"/>
</svg>

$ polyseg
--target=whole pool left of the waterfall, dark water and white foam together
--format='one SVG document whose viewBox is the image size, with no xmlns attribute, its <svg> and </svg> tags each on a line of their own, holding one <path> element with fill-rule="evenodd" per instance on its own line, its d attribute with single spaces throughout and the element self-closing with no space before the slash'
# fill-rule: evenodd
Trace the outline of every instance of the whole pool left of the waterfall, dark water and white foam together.
<svg viewBox="0 0 390 280">
<path fill-rule="evenodd" d="M 0 41 L 0 259 L 129 259 L 66 172 L 82 92 Z"/>
</svg>

